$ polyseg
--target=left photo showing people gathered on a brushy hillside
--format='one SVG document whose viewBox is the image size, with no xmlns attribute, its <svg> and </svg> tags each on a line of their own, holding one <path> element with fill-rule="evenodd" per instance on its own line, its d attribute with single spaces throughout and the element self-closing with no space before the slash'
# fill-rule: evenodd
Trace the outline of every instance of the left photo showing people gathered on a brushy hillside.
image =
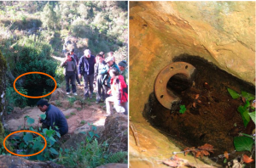
<svg viewBox="0 0 256 168">
<path fill-rule="evenodd" d="M 0 2 L 0 168 L 128 167 L 128 2 Z"/>
</svg>

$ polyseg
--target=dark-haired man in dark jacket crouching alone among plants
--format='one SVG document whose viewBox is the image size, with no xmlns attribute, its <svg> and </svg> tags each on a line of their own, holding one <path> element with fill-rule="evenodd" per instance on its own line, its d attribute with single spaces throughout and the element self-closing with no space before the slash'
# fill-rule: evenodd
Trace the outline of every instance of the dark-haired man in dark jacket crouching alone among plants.
<svg viewBox="0 0 256 168">
<path fill-rule="evenodd" d="M 40 99 L 37 103 L 38 109 L 45 112 L 46 118 L 43 120 L 39 117 L 39 122 L 42 123 L 43 128 L 49 129 L 51 127 L 56 132 L 59 132 L 61 136 L 68 132 L 67 119 L 60 109 L 54 105 L 49 104 L 46 99 Z M 56 128 L 57 126 L 57 128 Z"/>
</svg>

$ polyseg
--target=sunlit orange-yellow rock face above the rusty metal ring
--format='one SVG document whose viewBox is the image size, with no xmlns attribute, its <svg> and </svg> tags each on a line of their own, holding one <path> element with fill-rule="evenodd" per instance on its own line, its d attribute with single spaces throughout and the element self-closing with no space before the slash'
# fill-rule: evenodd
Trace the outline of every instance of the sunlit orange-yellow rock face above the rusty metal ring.
<svg viewBox="0 0 256 168">
<path fill-rule="evenodd" d="M 130 2 L 130 114 L 142 111 L 160 70 L 181 54 L 255 81 L 255 2 Z"/>
</svg>

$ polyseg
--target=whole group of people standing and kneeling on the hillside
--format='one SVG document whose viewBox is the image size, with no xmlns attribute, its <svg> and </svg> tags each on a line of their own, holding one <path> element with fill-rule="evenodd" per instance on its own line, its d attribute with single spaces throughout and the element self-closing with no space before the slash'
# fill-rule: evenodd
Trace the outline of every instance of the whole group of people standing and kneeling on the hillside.
<svg viewBox="0 0 256 168">
<path fill-rule="evenodd" d="M 128 70 L 125 60 L 116 64 L 113 52 L 108 53 L 107 58 L 103 52 L 95 57 L 90 49 L 85 49 L 79 59 L 72 49 L 66 53 L 61 66 L 65 68 L 67 94 L 71 93 L 71 83 L 73 95 L 78 95 L 75 81 L 81 86 L 79 79 L 83 76 L 84 99 L 92 98 L 95 84 L 96 104 L 105 102 L 108 115 L 113 114 L 112 104 L 117 112 L 128 114 Z"/>
</svg>

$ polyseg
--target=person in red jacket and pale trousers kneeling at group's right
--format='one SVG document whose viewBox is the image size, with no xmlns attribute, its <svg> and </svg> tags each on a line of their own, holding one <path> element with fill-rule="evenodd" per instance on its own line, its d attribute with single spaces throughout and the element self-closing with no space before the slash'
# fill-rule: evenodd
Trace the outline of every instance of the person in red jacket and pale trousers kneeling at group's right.
<svg viewBox="0 0 256 168">
<path fill-rule="evenodd" d="M 108 94 L 111 94 L 111 96 L 106 98 L 107 114 L 113 115 L 113 104 L 118 113 L 128 115 L 128 94 L 124 92 L 125 87 L 127 87 L 124 77 L 119 75 L 119 70 L 116 69 L 110 69 L 109 75 L 111 76 L 111 89 L 108 90 Z"/>
</svg>

